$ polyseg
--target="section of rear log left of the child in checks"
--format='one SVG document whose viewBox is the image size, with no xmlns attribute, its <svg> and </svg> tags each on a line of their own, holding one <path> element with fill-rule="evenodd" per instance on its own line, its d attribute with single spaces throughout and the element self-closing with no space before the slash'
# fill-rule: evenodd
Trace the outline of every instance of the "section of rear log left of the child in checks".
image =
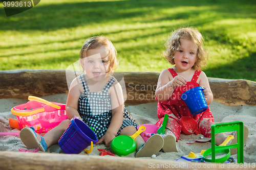
<svg viewBox="0 0 256 170">
<path fill-rule="evenodd" d="M 65 70 L 18 69 L 0 71 L 0 98 L 28 99 L 68 94 Z"/>
</svg>

